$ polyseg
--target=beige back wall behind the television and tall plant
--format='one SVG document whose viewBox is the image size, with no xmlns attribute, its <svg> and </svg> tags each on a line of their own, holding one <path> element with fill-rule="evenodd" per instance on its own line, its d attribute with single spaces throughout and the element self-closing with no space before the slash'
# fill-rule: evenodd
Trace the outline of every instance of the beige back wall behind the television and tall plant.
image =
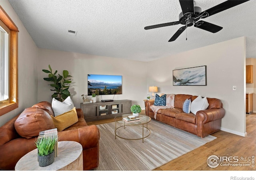
<svg viewBox="0 0 256 180">
<path fill-rule="evenodd" d="M 139 104 L 144 108 L 144 99 L 146 98 L 146 62 L 134 60 L 124 60 L 118 58 L 108 58 L 102 56 L 92 56 L 72 52 L 62 52 L 54 50 L 39 49 L 38 66 L 38 101 L 47 100 L 51 102 L 50 86 L 43 80 L 47 74 L 42 69 L 48 69 L 48 64 L 53 70 L 68 70 L 73 76 L 73 83 L 70 86 L 71 98 L 74 105 L 80 108 L 82 94 L 87 94 L 87 75 L 88 74 L 106 74 L 122 76 L 122 94 L 104 95 L 103 99 L 132 100 L 132 104 Z M 91 97 L 91 96 L 90 96 Z M 97 101 L 101 96 L 97 97 Z"/>
</svg>

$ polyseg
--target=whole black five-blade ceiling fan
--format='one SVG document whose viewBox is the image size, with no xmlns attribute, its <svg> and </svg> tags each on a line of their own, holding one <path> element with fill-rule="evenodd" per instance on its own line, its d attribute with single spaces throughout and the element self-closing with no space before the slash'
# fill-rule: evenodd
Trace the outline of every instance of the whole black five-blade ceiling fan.
<svg viewBox="0 0 256 180">
<path fill-rule="evenodd" d="M 182 12 L 179 15 L 179 21 L 146 26 L 144 29 L 148 30 L 148 29 L 160 28 L 164 26 L 172 26 L 177 24 L 185 25 L 179 28 L 178 31 L 172 36 L 172 38 L 170 38 L 168 42 L 176 40 L 187 27 L 192 25 L 194 25 L 194 27 L 196 28 L 200 28 L 212 33 L 216 33 L 222 30 L 222 27 L 212 24 L 210 22 L 202 21 L 200 19 L 207 18 L 209 16 L 212 16 L 213 14 L 217 14 L 219 12 L 222 12 L 224 10 L 227 10 L 229 8 L 232 8 L 234 6 L 242 4 L 249 0 L 227 0 L 203 12 L 200 7 L 194 6 L 193 0 L 179 0 L 179 1 L 182 9 Z"/>
</svg>

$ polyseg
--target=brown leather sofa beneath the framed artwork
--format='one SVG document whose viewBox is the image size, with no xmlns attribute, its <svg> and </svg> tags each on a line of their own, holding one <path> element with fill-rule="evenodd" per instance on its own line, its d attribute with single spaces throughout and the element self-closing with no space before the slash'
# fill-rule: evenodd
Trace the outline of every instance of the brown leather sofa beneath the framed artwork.
<svg viewBox="0 0 256 180">
<path fill-rule="evenodd" d="M 188 94 L 176 94 L 174 97 L 174 108 L 160 109 L 157 111 L 156 120 L 166 123 L 175 128 L 195 134 L 201 138 L 220 130 L 221 119 L 225 115 L 225 110 L 221 100 L 207 98 L 209 106 L 206 110 L 196 112 L 183 112 L 183 103 L 186 99 L 193 101 L 198 96 Z M 150 108 L 154 100 L 145 102 L 146 115 L 154 119 L 154 112 Z"/>
</svg>

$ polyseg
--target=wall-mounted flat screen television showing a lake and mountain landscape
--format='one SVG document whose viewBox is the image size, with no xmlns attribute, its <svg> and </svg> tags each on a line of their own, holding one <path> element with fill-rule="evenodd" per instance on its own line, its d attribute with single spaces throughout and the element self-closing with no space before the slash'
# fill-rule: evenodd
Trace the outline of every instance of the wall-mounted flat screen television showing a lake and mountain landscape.
<svg viewBox="0 0 256 180">
<path fill-rule="evenodd" d="M 88 96 L 122 94 L 122 76 L 88 74 Z"/>
</svg>

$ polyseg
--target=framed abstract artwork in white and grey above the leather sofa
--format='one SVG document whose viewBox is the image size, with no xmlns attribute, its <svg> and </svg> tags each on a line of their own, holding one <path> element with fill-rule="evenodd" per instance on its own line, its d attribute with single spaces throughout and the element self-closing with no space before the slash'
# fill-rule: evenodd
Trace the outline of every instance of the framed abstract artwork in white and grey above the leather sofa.
<svg viewBox="0 0 256 180">
<path fill-rule="evenodd" d="M 172 71 L 173 86 L 206 86 L 206 66 L 177 69 Z"/>
</svg>

